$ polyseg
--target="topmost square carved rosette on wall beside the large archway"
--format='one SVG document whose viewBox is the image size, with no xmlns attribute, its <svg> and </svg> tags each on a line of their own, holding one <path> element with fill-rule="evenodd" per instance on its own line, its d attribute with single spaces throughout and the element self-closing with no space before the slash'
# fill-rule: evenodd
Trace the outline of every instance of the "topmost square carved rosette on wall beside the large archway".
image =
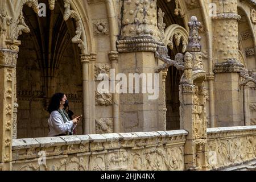
<svg viewBox="0 0 256 182">
<path fill-rule="evenodd" d="M 94 36 L 109 34 L 107 19 L 93 20 L 93 34 Z"/>
</svg>

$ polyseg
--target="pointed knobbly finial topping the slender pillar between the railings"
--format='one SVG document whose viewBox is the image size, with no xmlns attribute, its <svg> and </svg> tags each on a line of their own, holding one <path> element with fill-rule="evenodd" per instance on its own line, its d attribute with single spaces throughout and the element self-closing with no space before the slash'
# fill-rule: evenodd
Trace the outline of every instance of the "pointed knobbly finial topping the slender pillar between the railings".
<svg viewBox="0 0 256 182">
<path fill-rule="evenodd" d="M 201 23 L 197 20 L 196 16 L 191 17 L 191 21 L 188 22 L 189 26 L 189 37 L 188 37 L 188 52 L 200 52 L 201 51 L 201 44 L 200 40 L 201 37 L 199 36 L 199 28 Z"/>
</svg>

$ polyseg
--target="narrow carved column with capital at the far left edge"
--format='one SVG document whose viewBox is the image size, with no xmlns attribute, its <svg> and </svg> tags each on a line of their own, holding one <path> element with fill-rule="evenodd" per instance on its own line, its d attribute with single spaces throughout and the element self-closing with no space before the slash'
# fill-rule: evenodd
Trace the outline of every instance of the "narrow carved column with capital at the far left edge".
<svg viewBox="0 0 256 182">
<path fill-rule="evenodd" d="M 0 48 L 0 163 L 11 169 L 14 118 L 15 67 L 18 52 Z"/>
</svg>

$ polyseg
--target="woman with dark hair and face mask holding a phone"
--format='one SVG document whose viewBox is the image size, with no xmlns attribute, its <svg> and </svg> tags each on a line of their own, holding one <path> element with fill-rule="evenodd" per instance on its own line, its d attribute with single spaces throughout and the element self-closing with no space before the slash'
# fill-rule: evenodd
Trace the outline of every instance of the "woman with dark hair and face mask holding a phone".
<svg viewBox="0 0 256 182">
<path fill-rule="evenodd" d="M 73 130 L 80 121 L 81 116 L 76 117 L 73 120 L 68 117 L 68 114 L 64 110 L 65 102 L 67 102 L 67 97 L 64 93 L 56 93 L 51 98 L 48 107 L 48 112 L 50 114 L 48 119 L 48 137 L 73 135 Z"/>
</svg>

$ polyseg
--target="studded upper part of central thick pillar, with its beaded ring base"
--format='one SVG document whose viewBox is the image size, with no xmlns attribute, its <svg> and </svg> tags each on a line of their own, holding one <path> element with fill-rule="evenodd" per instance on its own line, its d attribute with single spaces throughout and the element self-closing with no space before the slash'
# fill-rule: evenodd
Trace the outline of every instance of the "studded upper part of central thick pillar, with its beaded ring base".
<svg viewBox="0 0 256 182">
<path fill-rule="evenodd" d="M 157 46 L 163 46 L 157 22 L 156 1 L 123 1 L 122 28 L 117 41 L 118 52 L 155 52 Z M 159 17 L 159 20 L 161 17 Z"/>
</svg>

